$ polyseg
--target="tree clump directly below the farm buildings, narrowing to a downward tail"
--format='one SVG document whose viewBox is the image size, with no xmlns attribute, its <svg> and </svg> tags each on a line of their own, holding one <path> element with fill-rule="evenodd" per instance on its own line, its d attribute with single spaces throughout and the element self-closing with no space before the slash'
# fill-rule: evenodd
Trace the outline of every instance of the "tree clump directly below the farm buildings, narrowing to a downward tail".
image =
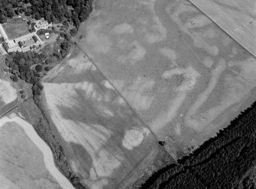
<svg viewBox="0 0 256 189">
<path fill-rule="evenodd" d="M 32 84 L 33 98 L 36 104 L 39 104 L 39 96 L 43 90 L 41 78 L 50 71 L 54 62 L 63 59 L 70 50 L 70 37 L 66 34 L 64 40 L 59 41 L 56 50 L 52 53 L 35 53 L 28 52 L 11 52 L 5 59 L 5 64 L 8 66 L 8 71 L 11 72 L 10 78 L 13 82 L 18 82 L 18 79 L 24 80 Z"/>
</svg>

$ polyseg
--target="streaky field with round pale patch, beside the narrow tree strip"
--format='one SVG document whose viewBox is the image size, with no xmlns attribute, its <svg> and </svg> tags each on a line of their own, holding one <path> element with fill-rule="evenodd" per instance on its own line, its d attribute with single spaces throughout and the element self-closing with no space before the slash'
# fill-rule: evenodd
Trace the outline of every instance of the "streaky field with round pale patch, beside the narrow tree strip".
<svg viewBox="0 0 256 189">
<path fill-rule="evenodd" d="M 128 188 L 164 149 L 83 52 L 67 57 L 43 85 L 70 168 L 90 189 Z"/>
</svg>

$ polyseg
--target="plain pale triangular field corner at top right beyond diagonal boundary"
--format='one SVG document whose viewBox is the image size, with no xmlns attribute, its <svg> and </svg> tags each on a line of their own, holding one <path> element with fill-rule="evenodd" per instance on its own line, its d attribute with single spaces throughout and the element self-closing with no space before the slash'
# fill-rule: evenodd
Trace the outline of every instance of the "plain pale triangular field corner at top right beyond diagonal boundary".
<svg viewBox="0 0 256 189">
<path fill-rule="evenodd" d="M 256 57 L 256 2 L 189 0 Z"/>
</svg>

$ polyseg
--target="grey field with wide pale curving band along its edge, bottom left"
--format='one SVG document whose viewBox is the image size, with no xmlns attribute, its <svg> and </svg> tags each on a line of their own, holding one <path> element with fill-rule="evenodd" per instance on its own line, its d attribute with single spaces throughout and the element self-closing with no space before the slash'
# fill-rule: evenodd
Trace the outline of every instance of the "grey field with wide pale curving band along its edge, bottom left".
<svg viewBox="0 0 256 189">
<path fill-rule="evenodd" d="M 73 189 L 33 127 L 12 114 L 0 119 L 1 188 Z"/>
</svg>

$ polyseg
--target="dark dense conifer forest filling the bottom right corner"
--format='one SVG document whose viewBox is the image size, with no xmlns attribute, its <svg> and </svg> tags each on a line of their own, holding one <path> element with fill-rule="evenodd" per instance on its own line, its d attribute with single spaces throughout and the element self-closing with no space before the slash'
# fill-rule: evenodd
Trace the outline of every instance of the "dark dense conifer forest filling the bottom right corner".
<svg viewBox="0 0 256 189">
<path fill-rule="evenodd" d="M 141 189 L 240 189 L 256 188 L 245 176 L 256 162 L 256 102 L 215 138 L 178 160 L 179 165 L 160 169 Z"/>
</svg>

